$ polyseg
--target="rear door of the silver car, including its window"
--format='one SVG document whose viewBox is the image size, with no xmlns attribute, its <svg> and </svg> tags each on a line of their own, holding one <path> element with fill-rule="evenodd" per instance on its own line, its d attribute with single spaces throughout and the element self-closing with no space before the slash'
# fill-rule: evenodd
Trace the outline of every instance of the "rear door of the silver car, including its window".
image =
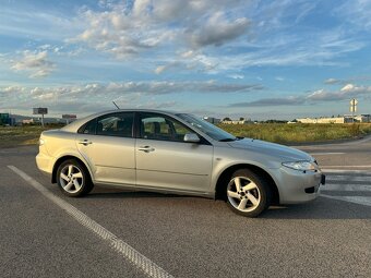
<svg viewBox="0 0 371 278">
<path fill-rule="evenodd" d="M 115 112 L 98 117 L 79 130 L 77 148 L 96 182 L 135 184 L 133 119 L 133 112 Z"/>
</svg>

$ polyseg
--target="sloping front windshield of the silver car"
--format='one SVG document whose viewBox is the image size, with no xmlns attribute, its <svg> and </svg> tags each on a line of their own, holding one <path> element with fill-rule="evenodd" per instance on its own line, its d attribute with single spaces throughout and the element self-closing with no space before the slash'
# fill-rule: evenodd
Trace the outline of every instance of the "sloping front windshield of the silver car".
<svg viewBox="0 0 371 278">
<path fill-rule="evenodd" d="M 229 134 L 228 132 L 215 126 L 214 124 L 202 120 L 193 114 L 189 113 L 179 113 L 177 114 L 179 118 L 184 120 L 185 122 L 190 123 L 192 126 L 198 129 L 199 131 L 207 134 L 213 140 L 219 141 L 219 142 L 229 142 L 229 141 L 236 141 L 237 137 Z"/>
</svg>

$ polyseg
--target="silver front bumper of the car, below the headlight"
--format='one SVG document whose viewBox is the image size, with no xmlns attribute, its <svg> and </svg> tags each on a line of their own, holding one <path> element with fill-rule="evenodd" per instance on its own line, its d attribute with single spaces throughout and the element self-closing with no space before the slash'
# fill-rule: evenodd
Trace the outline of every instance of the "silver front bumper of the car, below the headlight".
<svg viewBox="0 0 371 278">
<path fill-rule="evenodd" d="M 299 204 L 315 200 L 325 176 L 320 171 L 298 171 L 282 167 L 277 169 L 277 188 L 280 204 Z"/>
</svg>

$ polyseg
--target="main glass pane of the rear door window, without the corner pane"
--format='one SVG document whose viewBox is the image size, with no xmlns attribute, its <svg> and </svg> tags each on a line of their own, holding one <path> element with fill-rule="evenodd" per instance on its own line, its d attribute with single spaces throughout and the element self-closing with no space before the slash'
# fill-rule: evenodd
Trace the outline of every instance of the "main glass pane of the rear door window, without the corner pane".
<svg viewBox="0 0 371 278">
<path fill-rule="evenodd" d="M 98 118 L 97 135 L 132 137 L 133 113 L 112 113 Z"/>
</svg>

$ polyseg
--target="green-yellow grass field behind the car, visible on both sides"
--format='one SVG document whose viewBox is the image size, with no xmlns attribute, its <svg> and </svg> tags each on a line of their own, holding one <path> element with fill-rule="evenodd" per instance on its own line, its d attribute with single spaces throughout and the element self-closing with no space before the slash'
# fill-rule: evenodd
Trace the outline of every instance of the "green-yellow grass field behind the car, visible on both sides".
<svg viewBox="0 0 371 278">
<path fill-rule="evenodd" d="M 219 128 L 235 136 L 251 137 L 275 143 L 304 143 L 345 140 L 371 134 L 371 123 L 357 124 L 311 124 L 311 123 L 260 123 L 219 124 Z M 36 145 L 45 130 L 59 129 L 60 125 L 46 126 L 0 126 L 0 148 Z"/>
</svg>

